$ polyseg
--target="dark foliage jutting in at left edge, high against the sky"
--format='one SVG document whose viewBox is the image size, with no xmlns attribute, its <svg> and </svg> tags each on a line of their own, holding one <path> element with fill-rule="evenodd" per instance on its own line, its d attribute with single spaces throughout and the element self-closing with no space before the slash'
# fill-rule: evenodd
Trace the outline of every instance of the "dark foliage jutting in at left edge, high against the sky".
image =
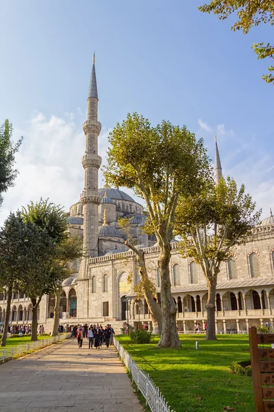
<svg viewBox="0 0 274 412">
<path fill-rule="evenodd" d="M 0 206 L 3 202 L 3 192 L 14 184 L 18 170 L 14 169 L 15 154 L 23 141 L 23 137 L 16 144 L 12 142 L 12 124 L 5 120 L 0 126 Z"/>
</svg>

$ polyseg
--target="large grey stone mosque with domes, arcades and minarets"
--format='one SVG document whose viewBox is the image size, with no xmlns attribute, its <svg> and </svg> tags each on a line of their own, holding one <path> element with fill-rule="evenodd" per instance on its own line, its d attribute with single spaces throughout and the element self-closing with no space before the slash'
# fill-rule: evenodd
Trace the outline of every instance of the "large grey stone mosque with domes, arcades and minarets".
<svg viewBox="0 0 274 412">
<path fill-rule="evenodd" d="M 136 257 L 125 246 L 125 233 L 118 219 L 129 218 L 129 232 L 139 248 L 145 251 L 147 270 L 160 299 L 159 247 L 155 236 L 143 233 L 147 215 L 139 203 L 119 187 L 107 183 L 98 188 L 98 93 L 95 58 L 88 91 L 88 115 L 84 122 L 86 150 L 82 157 L 84 190 L 69 210 L 69 231 L 83 238 L 86 258 L 75 262 L 75 274 L 62 283 L 60 323 L 111 323 L 114 330 L 128 321 L 138 327 L 152 328 L 151 316 L 144 297 L 138 299 L 134 286 L 140 281 Z M 215 175 L 222 174 L 215 141 Z M 256 238 L 241 245 L 221 265 L 216 290 L 216 331 L 240 332 L 249 325 L 273 323 L 274 318 L 274 217 L 262 220 Z M 184 332 L 193 330 L 195 322 L 206 323 L 206 280 L 199 265 L 184 259 L 178 242 L 171 243 L 170 262 L 172 293 L 177 302 L 177 326 Z M 132 282 L 128 282 L 132 274 Z M 44 296 L 40 302 L 39 323 L 51 331 L 55 298 Z M 0 325 L 5 319 L 6 297 L 0 293 Z M 32 304 L 20 291 L 12 297 L 12 323 L 30 323 Z"/>
</svg>

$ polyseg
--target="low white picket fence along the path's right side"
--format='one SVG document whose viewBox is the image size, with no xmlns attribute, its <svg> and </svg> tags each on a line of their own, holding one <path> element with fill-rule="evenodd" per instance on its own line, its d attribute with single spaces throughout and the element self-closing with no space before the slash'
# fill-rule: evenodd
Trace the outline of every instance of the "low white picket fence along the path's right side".
<svg viewBox="0 0 274 412">
<path fill-rule="evenodd" d="M 139 391 L 146 400 L 146 405 L 149 405 L 151 412 L 175 412 L 171 411 L 171 407 L 167 404 L 162 393 L 160 393 L 159 388 L 155 387 L 149 375 L 139 369 L 133 361 L 132 355 L 130 355 L 116 339 L 114 339 L 114 345 L 123 363 L 132 374 L 132 382 L 136 383 Z"/>
</svg>

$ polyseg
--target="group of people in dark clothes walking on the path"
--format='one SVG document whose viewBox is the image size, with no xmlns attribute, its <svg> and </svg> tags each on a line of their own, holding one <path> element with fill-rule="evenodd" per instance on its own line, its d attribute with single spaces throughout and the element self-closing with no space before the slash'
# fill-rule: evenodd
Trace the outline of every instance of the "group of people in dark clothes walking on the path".
<svg viewBox="0 0 274 412">
<path fill-rule="evenodd" d="M 72 336 L 77 338 L 79 349 L 82 349 L 84 338 L 88 339 L 89 349 L 92 349 L 93 345 L 96 349 L 100 349 L 102 345 L 105 345 L 108 349 L 110 345 L 113 345 L 114 334 L 115 332 L 112 325 L 109 323 L 105 328 L 103 328 L 102 325 L 99 325 L 99 323 L 97 323 L 97 325 L 90 325 L 90 328 L 88 328 L 86 323 L 86 325 L 78 325 L 76 330 L 72 330 Z"/>
</svg>

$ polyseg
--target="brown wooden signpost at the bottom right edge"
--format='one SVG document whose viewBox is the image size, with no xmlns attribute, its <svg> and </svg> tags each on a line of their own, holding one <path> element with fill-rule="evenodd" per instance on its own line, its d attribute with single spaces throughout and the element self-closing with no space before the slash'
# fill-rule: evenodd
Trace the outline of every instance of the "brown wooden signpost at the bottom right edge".
<svg viewBox="0 0 274 412">
<path fill-rule="evenodd" d="M 274 349 L 258 345 L 274 343 L 274 334 L 258 334 L 249 328 L 249 348 L 256 412 L 274 412 Z"/>
</svg>

